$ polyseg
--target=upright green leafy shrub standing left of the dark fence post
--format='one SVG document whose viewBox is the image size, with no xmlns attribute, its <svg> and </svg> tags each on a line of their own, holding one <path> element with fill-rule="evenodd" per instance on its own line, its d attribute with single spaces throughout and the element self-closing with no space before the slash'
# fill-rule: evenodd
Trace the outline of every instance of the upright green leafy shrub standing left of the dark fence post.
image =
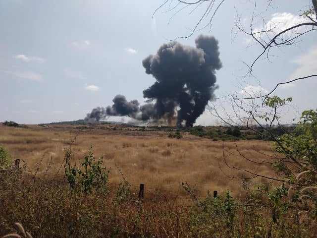
<svg viewBox="0 0 317 238">
<path fill-rule="evenodd" d="M 65 164 L 65 175 L 68 183 L 74 191 L 84 193 L 107 193 L 108 192 L 108 174 L 110 173 L 106 167 L 103 166 L 103 156 L 96 161 L 92 153 L 93 147 L 85 154 L 84 160 L 81 163 L 81 169 L 76 165 L 70 166 Z"/>
</svg>

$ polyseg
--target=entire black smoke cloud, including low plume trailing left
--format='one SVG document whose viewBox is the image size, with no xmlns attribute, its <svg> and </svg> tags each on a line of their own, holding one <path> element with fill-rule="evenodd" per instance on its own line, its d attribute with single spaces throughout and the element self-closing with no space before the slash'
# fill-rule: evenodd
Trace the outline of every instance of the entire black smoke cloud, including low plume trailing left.
<svg viewBox="0 0 317 238">
<path fill-rule="evenodd" d="M 209 100 L 214 100 L 215 70 L 222 67 L 218 41 L 213 36 L 200 35 L 196 47 L 176 41 L 163 44 L 156 55 L 142 61 L 147 74 L 156 82 L 143 91 L 147 104 L 128 102 L 122 95 L 114 97 L 113 105 L 97 107 L 87 114 L 86 121 L 94 122 L 108 116 L 129 116 L 139 120 L 166 119 L 168 124 L 185 122 L 193 126 L 203 114 Z"/>
</svg>

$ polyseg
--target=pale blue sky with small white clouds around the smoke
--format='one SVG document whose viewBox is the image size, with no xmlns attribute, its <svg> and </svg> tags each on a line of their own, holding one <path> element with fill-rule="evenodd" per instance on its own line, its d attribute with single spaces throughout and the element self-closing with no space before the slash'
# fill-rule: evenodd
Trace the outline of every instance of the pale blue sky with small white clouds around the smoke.
<svg viewBox="0 0 317 238">
<path fill-rule="evenodd" d="M 250 64 L 261 48 L 234 25 L 237 14 L 241 24 L 250 25 L 254 4 L 226 0 L 211 27 L 197 28 L 182 38 L 190 35 L 206 5 L 178 12 L 174 0 L 156 11 L 163 2 L 0 0 L 0 121 L 37 124 L 84 119 L 93 108 L 112 105 L 118 94 L 143 104 L 143 90 L 156 79 L 146 73 L 142 60 L 174 39 L 194 47 L 200 34 L 218 40 L 222 68 L 216 71 L 218 89 L 211 102 L 215 107 L 223 105 L 221 99 L 228 94 L 265 93 L 278 82 L 317 74 L 316 31 L 294 46 L 272 51 L 269 60 L 259 60 L 255 77 L 242 77 L 248 70 L 244 62 Z M 311 3 L 278 0 L 264 12 L 264 2 L 258 0 L 256 10 L 270 22 L 282 24 L 280 29 L 303 21 L 299 15 Z M 254 27 L 263 29 L 261 22 Z M 276 94 L 293 98 L 295 110 L 284 121 L 296 122 L 298 113 L 317 108 L 317 78 L 280 86 Z M 202 125 L 218 123 L 209 110 L 196 120 Z"/>
</svg>

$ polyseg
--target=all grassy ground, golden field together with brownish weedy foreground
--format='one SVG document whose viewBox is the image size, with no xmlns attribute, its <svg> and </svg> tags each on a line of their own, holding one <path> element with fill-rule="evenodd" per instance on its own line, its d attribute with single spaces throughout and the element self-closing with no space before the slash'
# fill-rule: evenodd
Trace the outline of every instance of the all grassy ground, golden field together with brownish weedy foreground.
<svg viewBox="0 0 317 238">
<path fill-rule="evenodd" d="M 171 138 L 175 131 L 0 125 L 0 145 L 26 166 L 0 172 L 0 236 L 21 234 L 14 229 L 20 222 L 38 238 L 315 237 L 315 210 L 289 203 L 287 190 L 272 190 L 278 183 L 265 179 L 277 176 L 268 164 L 276 159 L 270 142 L 215 141 L 184 131 Z M 64 158 L 71 140 L 72 165 L 91 146 L 96 158 L 104 156 L 108 193 L 70 189 Z"/>
</svg>

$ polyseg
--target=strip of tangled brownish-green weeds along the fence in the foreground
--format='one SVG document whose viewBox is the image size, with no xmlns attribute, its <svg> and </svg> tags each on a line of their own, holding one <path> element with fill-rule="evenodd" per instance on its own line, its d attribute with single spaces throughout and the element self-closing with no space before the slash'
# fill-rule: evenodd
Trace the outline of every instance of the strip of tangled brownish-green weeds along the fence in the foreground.
<svg viewBox="0 0 317 238">
<path fill-rule="evenodd" d="M 299 238 L 315 237 L 317 231 L 313 218 L 299 220 L 298 210 L 273 211 L 284 203 L 285 189 L 272 191 L 271 205 L 262 207 L 261 196 L 267 192 L 252 192 L 248 206 L 237 206 L 228 192 L 200 197 L 188 186 L 191 200 L 184 205 L 163 191 L 148 190 L 142 201 L 130 194 L 118 202 L 118 194 L 125 192 L 111 190 L 99 196 L 74 193 L 68 186 L 60 179 L 25 175 L 16 175 L 5 185 L 0 182 L 0 237 L 15 232 L 12 224 L 16 221 L 33 237 Z M 181 199 L 185 201 L 185 196 Z"/>
</svg>

